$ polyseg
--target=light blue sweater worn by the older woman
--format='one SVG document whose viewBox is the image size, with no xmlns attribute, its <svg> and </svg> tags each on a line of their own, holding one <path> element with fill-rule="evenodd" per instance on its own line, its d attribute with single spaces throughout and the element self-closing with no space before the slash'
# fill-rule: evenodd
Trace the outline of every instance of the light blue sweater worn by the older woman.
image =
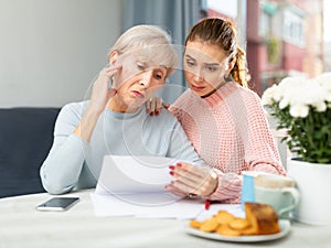
<svg viewBox="0 0 331 248">
<path fill-rule="evenodd" d="M 150 117 L 142 106 L 135 114 L 105 110 L 97 121 L 89 142 L 74 130 L 88 101 L 63 107 L 54 129 L 54 142 L 40 175 L 51 194 L 63 194 L 73 188 L 95 187 L 104 155 L 158 155 L 204 164 L 182 127 L 167 110 Z"/>
</svg>

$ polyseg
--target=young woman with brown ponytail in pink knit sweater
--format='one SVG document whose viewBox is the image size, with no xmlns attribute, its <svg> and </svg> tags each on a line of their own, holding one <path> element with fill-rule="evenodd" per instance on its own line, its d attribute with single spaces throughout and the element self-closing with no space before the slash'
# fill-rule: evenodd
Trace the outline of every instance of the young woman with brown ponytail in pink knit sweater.
<svg viewBox="0 0 331 248">
<path fill-rule="evenodd" d="M 238 203 L 243 171 L 286 174 L 260 99 L 247 88 L 246 57 L 236 40 L 235 26 L 222 19 L 202 20 L 186 37 L 183 69 L 190 89 L 170 111 L 213 170 L 170 166 L 170 192 Z"/>
</svg>

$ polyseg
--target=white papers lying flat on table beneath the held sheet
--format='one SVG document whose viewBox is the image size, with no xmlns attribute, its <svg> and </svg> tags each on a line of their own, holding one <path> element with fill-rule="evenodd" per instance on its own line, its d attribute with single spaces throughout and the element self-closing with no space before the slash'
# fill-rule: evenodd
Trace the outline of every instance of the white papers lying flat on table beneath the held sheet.
<svg viewBox="0 0 331 248">
<path fill-rule="evenodd" d="M 205 220 L 218 211 L 227 211 L 236 217 L 245 217 L 239 204 L 215 204 L 209 211 L 204 209 L 204 202 L 197 200 L 181 200 L 168 202 L 169 195 L 158 193 L 135 195 L 99 195 L 92 193 L 92 202 L 96 216 L 132 216 L 139 218 L 177 218 Z M 141 204 L 151 200 L 166 200 L 164 204 Z M 154 200 L 156 201 L 156 200 Z M 139 204 L 140 202 L 140 204 Z"/>
</svg>

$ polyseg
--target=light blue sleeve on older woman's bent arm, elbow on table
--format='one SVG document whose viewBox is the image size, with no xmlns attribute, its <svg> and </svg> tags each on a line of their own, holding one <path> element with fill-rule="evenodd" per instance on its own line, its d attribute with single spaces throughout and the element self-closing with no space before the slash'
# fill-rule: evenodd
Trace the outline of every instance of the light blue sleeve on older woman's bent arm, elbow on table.
<svg viewBox="0 0 331 248">
<path fill-rule="evenodd" d="M 43 187 L 51 194 L 72 191 L 84 164 L 87 143 L 73 134 L 79 122 L 79 114 L 73 105 L 61 110 L 54 129 L 51 151 L 40 170 Z"/>
</svg>

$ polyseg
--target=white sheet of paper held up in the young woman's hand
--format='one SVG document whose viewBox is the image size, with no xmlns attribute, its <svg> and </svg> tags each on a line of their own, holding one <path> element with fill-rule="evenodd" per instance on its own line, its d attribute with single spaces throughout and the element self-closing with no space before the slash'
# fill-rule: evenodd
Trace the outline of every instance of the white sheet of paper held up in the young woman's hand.
<svg viewBox="0 0 331 248">
<path fill-rule="evenodd" d="M 106 155 L 96 187 L 97 194 L 163 192 L 173 177 L 174 159 L 161 157 Z"/>
</svg>

